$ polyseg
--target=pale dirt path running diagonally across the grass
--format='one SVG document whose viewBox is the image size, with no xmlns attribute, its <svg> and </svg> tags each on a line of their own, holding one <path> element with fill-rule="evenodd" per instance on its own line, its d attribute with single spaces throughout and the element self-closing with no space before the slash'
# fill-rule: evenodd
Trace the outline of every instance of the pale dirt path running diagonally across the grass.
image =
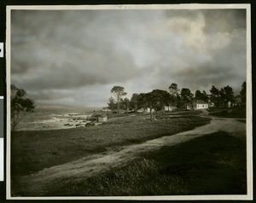
<svg viewBox="0 0 256 203">
<path fill-rule="evenodd" d="M 119 151 L 111 151 L 107 154 L 95 154 L 89 158 L 74 160 L 67 164 L 55 165 L 38 171 L 28 176 L 20 177 L 19 185 L 22 185 L 26 194 L 37 195 L 47 190 L 47 185 L 56 178 L 92 177 L 96 174 L 108 171 L 113 167 L 124 166 L 129 161 L 151 150 L 163 146 L 172 146 L 181 142 L 187 142 L 198 136 L 203 136 L 215 131 L 229 131 L 234 136 L 246 136 L 246 125 L 236 119 L 214 119 L 209 125 L 197 127 L 192 131 L 184 131 L 173 136 L 163 136 L 141 144 L 134 144 L 121 148 Z"/>
</svg>

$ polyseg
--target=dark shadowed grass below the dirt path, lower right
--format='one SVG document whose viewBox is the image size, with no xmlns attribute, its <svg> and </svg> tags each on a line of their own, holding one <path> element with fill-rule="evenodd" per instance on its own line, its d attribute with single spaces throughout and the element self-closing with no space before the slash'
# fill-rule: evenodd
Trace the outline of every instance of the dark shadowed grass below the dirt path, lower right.
<svg viewBox="0 0 256 203">
<path fill-rule="evenodd" d="M 218 131 L 96 177 L 55 181 L 45 195 L 246 194 L 246 180 L 245 140 Z"/>
</svg>

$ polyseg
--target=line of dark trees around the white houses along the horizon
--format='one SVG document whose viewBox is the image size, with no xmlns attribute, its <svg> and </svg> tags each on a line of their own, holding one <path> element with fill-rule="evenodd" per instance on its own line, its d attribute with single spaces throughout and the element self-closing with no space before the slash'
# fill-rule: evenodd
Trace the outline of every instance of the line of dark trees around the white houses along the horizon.
<svg viewBox="0 0 256 203">
<path fill-rule="evenodd" d="M 119 113 L 122 110 L 137 111 L 140 108 L 149 108 L 150 112 L 154 110 L 160 111 L 166 107 L 185 108 L 193 102 L 211 102 L 215 107 L 228 107 L 228 103 L 235 103 L 235 96 L 232 87 L 227 85 L 220 90 L 212 85 L 210 94 L 205 90 L 196 90 L 195 94 L 189 88 L 178 89 L 177 84 L 171 84 L 169 91 L 166 90 L 152 90 L 148 93 L 134 93 L 129 100 L 125 88 L 121 86 L 114 86 L 111 90 L 113 96 L 108 100 L 108 109 Z M 246 82 L 241 85 L 241 104 L 246 103 Z"/>
</svg>

